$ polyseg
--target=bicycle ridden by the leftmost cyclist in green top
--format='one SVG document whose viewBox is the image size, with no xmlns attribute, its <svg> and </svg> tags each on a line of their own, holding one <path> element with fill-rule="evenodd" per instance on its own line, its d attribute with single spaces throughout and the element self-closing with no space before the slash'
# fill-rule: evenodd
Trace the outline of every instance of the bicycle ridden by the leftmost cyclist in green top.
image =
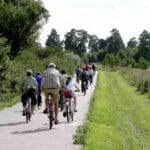
<svg viewBox="0 0 150 150">
<path fill-rule="evenodd" d="M 31 121 L 31 98 L 27 98 L 27 103 L 25 106 L 25 116 L 26 116 L 26 123 L 28 123 L 29 121 Z"/>
</svg>

